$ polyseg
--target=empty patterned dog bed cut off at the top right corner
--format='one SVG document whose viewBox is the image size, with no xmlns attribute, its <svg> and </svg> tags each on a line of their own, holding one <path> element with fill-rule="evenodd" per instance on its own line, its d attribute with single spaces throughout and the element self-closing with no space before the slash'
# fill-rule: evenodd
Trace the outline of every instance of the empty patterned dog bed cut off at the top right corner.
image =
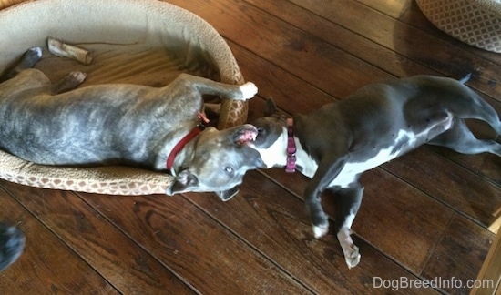
<svg viewBox="0 0 501 295">
<path fill-rule="evenodd" d="M 450 36 L 501 52 L 500 0 L 416 0 L 424 15 Z"/>
</svg>

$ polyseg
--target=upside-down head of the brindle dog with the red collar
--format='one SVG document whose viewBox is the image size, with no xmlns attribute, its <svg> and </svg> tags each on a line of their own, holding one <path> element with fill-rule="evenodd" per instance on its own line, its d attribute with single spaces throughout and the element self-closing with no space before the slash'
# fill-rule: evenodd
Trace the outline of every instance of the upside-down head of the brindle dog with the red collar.
<svg viewBox="0 0 501 295">
<path fill-rule="evenodd" d="M 199 134 L 191 157 L 176 171 L 168 195 L 182 192 L 215 192 L 227 201 L 239 192 L 248 170 L 263 166 L 259 153 L 250 147 L 258 136 L 256 127 L 246 124 L 218 130 L 209 127 Z"/>
</svg>

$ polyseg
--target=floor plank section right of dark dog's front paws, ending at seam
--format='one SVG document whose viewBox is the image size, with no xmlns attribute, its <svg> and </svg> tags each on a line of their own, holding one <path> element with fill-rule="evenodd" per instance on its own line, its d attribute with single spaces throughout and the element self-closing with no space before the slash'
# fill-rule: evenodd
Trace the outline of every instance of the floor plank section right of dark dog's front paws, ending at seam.
<svg viewBox="0 0 501 295">
<path fill-rule="evenodd" d="M 414 273 L 421 273 L 453 210 L 383 169 L 368 172 L 362 181 L 365 194 L 354 232 Z"/>
</svg>

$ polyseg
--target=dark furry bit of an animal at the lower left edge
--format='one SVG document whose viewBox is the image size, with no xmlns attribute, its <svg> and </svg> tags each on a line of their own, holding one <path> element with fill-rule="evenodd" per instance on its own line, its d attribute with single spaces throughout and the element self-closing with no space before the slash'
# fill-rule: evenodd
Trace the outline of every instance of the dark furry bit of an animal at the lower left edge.
<svg viewBox="0 0 501 295">
<path fill-rule="evenodd" d="M 0 271 L 15 262 L 25 249 L 25 235 L 20 229 L 0 222 Z"/>
</svg>

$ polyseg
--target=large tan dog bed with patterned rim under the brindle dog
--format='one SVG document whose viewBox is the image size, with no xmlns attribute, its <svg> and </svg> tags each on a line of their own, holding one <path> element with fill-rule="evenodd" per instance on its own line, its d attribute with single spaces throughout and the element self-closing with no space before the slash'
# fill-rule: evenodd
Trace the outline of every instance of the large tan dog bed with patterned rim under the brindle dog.
<svg viewBox="0 0 501 295">
<path fill-rule="evenodd" d="M 43 46 L 36 65 L 51 80 L 79 70 L 82 86 L 101 83 L 169 84 L 181 72 L 242 84 L 229 46 L 207 22 L 157 0 L 0 0 L 0 69 L 32 46 Z M 87 49 L 92 63 L 51 56 L 47 38 Z M 247 119 L 247 103 L 220 97 L 218 127 Z M 36 165 L 0 151 L 0 178 L 38 187 L 111 195 L 164 194 L 173 178 L 128 167 Z"/>
</svg>

